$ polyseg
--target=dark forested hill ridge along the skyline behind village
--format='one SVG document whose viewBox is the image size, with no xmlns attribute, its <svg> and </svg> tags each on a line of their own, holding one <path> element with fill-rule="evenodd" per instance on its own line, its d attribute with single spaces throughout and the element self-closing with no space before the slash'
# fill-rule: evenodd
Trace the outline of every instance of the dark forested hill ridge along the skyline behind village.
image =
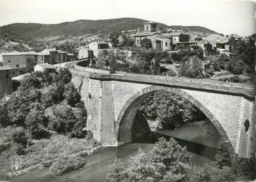
<svg viewBox="0 0 256 182">
<path fill-rule="evenodd" d="M 136 30 L 143 27 L 147 20 L 134 18 L 105 19 L 105 20 L 78 20 L 58 24 L 40 23 L 13 23 L 0 27 L 0 36 L 14 39 L 43 38 L 48 36 L 77 36 L 79 34 L 108 34 L 115 30 Z M 215 34 L 213 30 L 199 26 L 168 26 L 159 23 L 160 27 L 188 29 L 190 31 Z"/>
</svg>

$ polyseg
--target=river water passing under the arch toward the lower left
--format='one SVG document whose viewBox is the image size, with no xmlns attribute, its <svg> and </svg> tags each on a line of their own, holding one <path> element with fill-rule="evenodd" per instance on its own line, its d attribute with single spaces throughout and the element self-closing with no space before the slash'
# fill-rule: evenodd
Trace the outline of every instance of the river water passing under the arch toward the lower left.
<svg viewBox="0 0 256 182">
<path fill-rule="evenodd" d="M 174 137 L 181 146 L 187 146 L 192 155 L 191 165 L 201 166 L 214 160 L 215 152 L 221 143 L 221 137 L 213 124 L 204 121 L 183 126 L 179 130 L 155 131 L 150 133 L 150 136 L 118 148 L 104 148 L 100 153 L 88 156 L 86 166 L 81 170 L 68 172 L 60 177 L 52 177 L 48 168 L 45 168 L 14 177 L 12 181 L 105 181 L 109 166 L 115 157 L 120 158 L 126 165 L 127 159 L 136 155 L 139 148 L 144 151 L 150 150 L 155 138 L 161 136 Z"/>
</svg>

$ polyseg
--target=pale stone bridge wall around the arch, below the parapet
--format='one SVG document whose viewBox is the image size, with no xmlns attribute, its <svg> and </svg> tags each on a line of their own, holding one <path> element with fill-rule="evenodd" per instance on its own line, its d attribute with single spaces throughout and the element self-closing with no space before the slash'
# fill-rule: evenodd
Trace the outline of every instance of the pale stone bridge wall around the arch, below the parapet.
<svg viewBox="0 0 256 182">
<path fill-rule="evenodd" d="M 88 111 L 87 128 L 105 146 L 130 142 L 132 122 L 139 105 L 148 94 L 163 89 L 195 104 L 213 122 L 230 152 L 242 157 L 255 153 L 255 102 L 241 95 L 123 80 L 97 80 L 77 72 L 72 72 L 72 82 L 81 93 Z M 245 120 L 250 121 L 248 131 L 245 131 Z"/>
</svg>

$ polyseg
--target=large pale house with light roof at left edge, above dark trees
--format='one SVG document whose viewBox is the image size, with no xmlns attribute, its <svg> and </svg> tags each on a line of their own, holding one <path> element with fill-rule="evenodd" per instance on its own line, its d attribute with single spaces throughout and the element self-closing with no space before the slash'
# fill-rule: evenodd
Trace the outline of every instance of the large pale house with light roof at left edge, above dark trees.
<svg viewBox="0 0 256 182">
<path fill-rule="evenodd" d="M 12 76 L 33 71 L 36 60 L 36 52 L 6 52 L 0 54 L 2 65 L 12 68 Z"/>
</svg>

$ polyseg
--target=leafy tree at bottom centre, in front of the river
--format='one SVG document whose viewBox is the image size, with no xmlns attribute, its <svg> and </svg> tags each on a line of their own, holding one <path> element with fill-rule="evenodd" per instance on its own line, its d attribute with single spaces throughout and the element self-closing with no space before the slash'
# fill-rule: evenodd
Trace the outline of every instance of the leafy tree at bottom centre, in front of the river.
<svg viewBox="0 0 256 182">
<path fill-rule="evenodd" d="M 175 139 L 161 137 L 148 153 L 139 149 L 130 157 L 126 172 L 128 181 L 185 181 L 190 168 L 190 156 L 186 148 Z"/>
</svg>

